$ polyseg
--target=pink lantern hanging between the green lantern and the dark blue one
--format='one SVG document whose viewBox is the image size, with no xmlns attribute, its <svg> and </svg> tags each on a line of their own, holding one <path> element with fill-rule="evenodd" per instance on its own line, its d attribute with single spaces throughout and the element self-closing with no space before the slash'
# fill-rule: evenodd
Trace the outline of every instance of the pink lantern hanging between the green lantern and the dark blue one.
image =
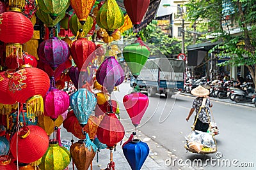
<svg viewBox="0 0 256 170">
<path fill-rule="evenodd" d="M 132 124 L 137 127 L 148 108 L 148 96 L 140 92 L 132 92 L 124 96 L 123 103 Z"/>
</svg>

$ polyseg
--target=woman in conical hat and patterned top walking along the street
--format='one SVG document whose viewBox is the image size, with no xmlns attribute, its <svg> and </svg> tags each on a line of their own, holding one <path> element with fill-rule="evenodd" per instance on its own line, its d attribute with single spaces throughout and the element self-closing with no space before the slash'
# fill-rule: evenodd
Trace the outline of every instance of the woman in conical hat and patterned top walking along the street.
<svg viewBox="0 0 256 170">
<path fill-rule="evenodd" d="M 211 120 L 210 107 L 212 107 L 212 103 L 209 97 L 207 97 L 210 92 L 209 90 L 199 85 L 195 89 L 191 90 L 191 94 L 197 97 L 193 101 L 192 108 L 189 111 L 186 120 L 188 122 L 189 118 L 196 110 L 194 130 L 207 132 L 210 123 L 209 121 Z"/>
</svg>

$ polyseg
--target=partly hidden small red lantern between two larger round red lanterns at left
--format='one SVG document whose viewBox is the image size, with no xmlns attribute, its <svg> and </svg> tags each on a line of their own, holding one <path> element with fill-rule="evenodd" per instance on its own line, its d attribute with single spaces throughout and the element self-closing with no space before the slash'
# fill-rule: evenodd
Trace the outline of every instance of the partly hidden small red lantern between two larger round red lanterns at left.
<svg viewBox="0 0 256 170">
<path fill-rule="evenodd" d="M 5 62 L 6 62 L 6 66 L 9 69 L 17 69 L 19 66 L 22 66 L 25 64 L 29 64 L 32 67 L 37 66 L 36 57 L 28 54 L 27 52 L 22 52 L 22 55 L 18 57 L 18 60 L 17 60 L 17 57 L 8 56 L 6 57 Z"/>
</svg>

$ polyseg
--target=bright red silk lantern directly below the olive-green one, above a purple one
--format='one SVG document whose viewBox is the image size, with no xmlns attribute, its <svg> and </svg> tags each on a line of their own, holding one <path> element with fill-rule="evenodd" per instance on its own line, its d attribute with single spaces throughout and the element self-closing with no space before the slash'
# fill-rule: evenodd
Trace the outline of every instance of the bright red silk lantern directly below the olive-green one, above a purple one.
<svg viewBox="0 0 256 170">
<path fill-rule="evenodd" d="M 70 53 L 79 71 L 82 67 L 86 68 L 92 62 L 93 55 L 91 53 L 96 49 L 93 41 L 88 41 L 86 38 L 77 38 L 70 46 Z"/>
</svg>

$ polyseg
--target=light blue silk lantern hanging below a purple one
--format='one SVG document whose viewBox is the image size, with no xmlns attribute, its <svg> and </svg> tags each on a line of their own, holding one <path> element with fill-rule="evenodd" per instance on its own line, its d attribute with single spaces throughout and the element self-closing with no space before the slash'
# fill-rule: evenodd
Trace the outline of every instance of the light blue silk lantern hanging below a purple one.
<svg viewBox="0 0 256 170">
<path fill-rule="evenodd" d="M 97 103 L 97 98 L 88 89 L 81 88 L 70 96 L 70 106 L 82 127 L 87 124 Z"/>
</svg>

